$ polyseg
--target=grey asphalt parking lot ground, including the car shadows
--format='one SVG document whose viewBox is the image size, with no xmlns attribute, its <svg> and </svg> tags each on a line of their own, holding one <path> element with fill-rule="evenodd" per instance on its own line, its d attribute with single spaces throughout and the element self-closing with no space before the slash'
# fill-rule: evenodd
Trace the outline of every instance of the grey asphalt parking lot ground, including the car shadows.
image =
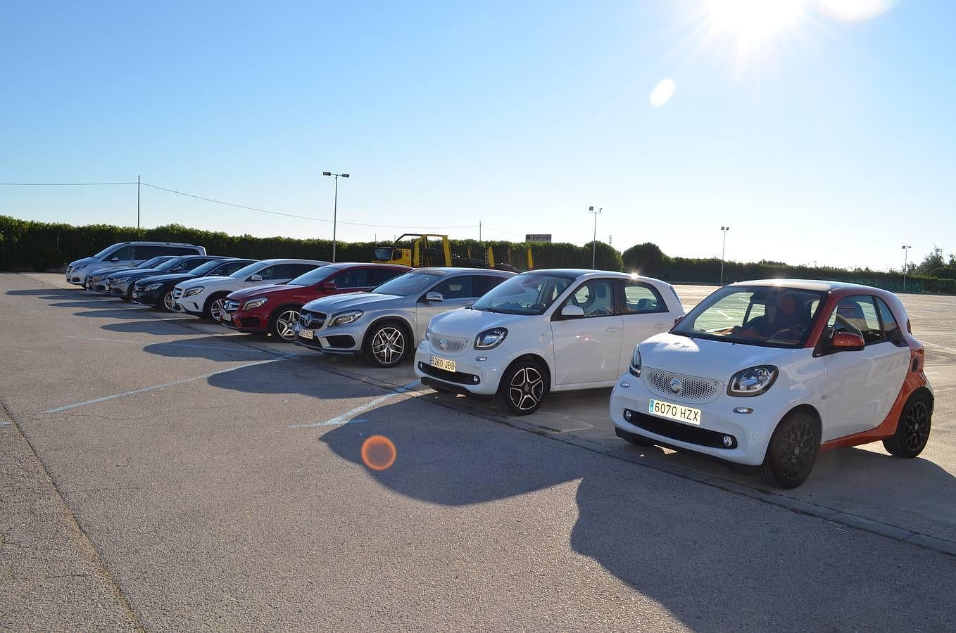
<svg viewBox="0 0 956 633">
<path fill-rule="evenodd" d="M 0 275 L 0 628 L 951 628 L 952 298 L 904 298 L 923 457 L 840 452 L 780 496 L 613 443 L 607 390 L 515 420 L 64 286 Z"/>
</svg>

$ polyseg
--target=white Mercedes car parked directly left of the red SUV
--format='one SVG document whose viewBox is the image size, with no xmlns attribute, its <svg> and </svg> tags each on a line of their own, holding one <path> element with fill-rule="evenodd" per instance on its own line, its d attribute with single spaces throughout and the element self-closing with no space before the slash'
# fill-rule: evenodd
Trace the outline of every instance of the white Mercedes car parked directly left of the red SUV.
<svg viewBox="0 0 956 633">
<path fill-rule="evenodd" d="M 176 310 L 221 321 L 230 292 L 253 285 L 285 284 L 328 262 L 315 260 L 262 260 L 236 270 L 228 277 L 199 277 L 173 288 Z"/>
</svg>

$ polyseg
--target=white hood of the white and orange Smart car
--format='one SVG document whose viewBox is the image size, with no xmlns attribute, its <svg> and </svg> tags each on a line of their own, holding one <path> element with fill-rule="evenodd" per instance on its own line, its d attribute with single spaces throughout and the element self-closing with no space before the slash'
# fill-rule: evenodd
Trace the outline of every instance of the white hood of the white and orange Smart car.
<svg viewBox="0 0 956 633">
<path fill-rule="evenodd" d="M 762 348 L 742 343 L 710 341 L 662 332 L 642 341 L 641 366 L 727 382 L 741 369 L 755 365 L 788 365 L 806 348 Z"/>
</svg>

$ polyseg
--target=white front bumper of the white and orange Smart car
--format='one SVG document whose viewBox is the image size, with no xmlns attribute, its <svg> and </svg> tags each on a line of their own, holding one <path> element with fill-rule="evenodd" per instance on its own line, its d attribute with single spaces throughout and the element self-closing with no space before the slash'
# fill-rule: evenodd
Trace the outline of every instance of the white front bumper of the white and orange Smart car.
<svg viewBox="0 0 956 633">
<path fill-rule="evenodd" d="M 651 399 L 699 409 L 701 423 L 688 424 L 653 415 L 648 412 Z M 735 408 L 751 412 L 736 412 Z M 736 398 L 721 393 L 706 403 L 668 398 L 648 390 L 641 378 L 630 373 L 622 375 L 611 391 L 609 411 L 614 425 L 626 433 L 749 466 L 764 461 L 771 433 L 784 412 L 776 411 L 770 400 L 761 402 L 760 396 Z"/>
</svg>

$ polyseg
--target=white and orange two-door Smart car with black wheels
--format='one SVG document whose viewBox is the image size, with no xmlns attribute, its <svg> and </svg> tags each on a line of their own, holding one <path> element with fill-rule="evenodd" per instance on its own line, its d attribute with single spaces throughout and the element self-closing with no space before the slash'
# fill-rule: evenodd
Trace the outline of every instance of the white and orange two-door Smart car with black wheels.
<svg viewBox="0 0 956 633">
<path fill-rule="evenodd" d="M 933 392 L 900 299 L 836 282 L 724 286 L 634 349 L 611 393 L 620 437 L 760 466 L 800 485 L 816 454 L 882 440 L 915 457 Z"/>
</svg>

